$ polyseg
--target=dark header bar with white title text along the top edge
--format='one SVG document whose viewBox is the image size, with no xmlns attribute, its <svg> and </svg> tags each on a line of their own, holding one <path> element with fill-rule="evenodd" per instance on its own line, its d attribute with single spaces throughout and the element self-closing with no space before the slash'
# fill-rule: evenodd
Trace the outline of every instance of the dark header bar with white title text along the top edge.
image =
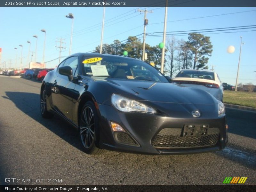
<svg viewBox="0 0 256 192">
<path fill-rule="evenodd" d="M 256 7 L 255 0 L 167 0 L 168 7 Z M 165 7 L 166 0 L 1 0 L 0 7 Z"/>
</svg>

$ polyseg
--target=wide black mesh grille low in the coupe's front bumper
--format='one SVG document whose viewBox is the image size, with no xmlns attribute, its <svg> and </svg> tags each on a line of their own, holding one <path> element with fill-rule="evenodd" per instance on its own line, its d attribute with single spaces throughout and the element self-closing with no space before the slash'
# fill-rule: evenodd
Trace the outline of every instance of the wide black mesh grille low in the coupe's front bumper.
<svg viewBox="0 0 256 192">
<path fill-rule="evenodd" d="M 157 134 L 151 141 L 155 148 L 200 148 L 214 146 L 219 140 L 219 133 L 201 137 L 180 137 Z"/>
</svg>

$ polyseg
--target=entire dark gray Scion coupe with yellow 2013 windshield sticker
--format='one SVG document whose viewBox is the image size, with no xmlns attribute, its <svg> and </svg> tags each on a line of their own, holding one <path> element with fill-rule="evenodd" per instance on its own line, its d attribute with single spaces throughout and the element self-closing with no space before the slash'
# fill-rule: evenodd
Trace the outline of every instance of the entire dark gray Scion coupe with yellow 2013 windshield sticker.
<svg viewBox="0 0 256 192">
<path fill-rule="evenodd" d="M 50 71 L 41 87 L 41 114 L 54 113 L 78 128 L 88 154 L 206 152 L 228 141 L 221 101 L 121 56 L 77 53 Z"/>
</svg>

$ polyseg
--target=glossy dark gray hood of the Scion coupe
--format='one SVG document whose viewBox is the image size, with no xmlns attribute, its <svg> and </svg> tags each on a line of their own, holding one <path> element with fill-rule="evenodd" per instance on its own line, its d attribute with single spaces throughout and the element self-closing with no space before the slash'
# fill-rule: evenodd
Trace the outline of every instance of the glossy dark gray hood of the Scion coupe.
<svg viewBox="0 0 256 192">
<path fill-rule="evenodd" d="M 107 78 L 106 82 L 117 94 L 138 100 L 173 117 L 192 116 L 198 110 L 205 118 L 218 114 L 218 101 L 209 93 L 190 87 L 170 83 L 119 80 Z"/>
</svg>

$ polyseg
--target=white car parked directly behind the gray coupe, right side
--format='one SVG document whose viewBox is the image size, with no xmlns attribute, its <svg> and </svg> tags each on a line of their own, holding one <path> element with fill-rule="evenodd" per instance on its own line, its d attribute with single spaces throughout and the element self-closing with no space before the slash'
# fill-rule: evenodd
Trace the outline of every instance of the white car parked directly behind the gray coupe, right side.
<svg viewBox="0 0 256 192">
<path fill-rule="evenodd" d="M 175 84 L 195 87 L 209 92 L 217 100 L 223 99 L 223 87 L 216 72 L 208 70 L 183 69 L 172 79 Z"/>
</svg>

